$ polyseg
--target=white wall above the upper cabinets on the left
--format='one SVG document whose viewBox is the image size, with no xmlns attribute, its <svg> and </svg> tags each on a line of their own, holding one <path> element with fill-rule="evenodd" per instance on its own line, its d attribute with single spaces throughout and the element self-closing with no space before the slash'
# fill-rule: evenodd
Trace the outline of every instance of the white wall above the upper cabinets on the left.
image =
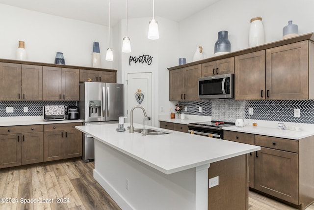
<svg viewBox="0 0 314 210">
<path fill-rule="evenodd" d="M 18 41 L 25 41 L 29 61 L 54 63 L 62 52 L 69 65 L 91 66 L 93 42 L 99 42 L 103 68 L 108 27 L 0 4 L 0 58 L 15 60 Z"/>
</svg>

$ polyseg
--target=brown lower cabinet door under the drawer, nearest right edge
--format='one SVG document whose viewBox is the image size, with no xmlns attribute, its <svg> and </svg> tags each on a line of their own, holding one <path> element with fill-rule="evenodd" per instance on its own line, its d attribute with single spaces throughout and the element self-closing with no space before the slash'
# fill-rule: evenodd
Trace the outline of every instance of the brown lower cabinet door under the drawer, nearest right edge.
<svg viewBox="0 0 314 210">
<path fill-rule="evenodd" d="M 261 148 L 255 159 L 255 189 L 298 204 L 298 154 Z"/>
</svg>

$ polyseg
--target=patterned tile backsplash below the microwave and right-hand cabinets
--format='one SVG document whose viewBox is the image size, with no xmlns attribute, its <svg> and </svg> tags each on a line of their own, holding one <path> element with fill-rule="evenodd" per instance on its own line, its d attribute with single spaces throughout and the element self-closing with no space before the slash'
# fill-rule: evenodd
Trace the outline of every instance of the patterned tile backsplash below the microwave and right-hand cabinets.
<svg viewBox="0 0 314 210">
<path fill-rule="evenodd" d="M 235 122 L 237 118 L 314 124 L 314 100 L 204 100 L 180 101 L 188 115 L 211 116 L 212 120 Z M 199 112 L 202 107 L 202 112 Z M 253 115 L 248 109 L 253 108 Z M 294 117 L 300 109 L 301 117 Z"/>
</svg>

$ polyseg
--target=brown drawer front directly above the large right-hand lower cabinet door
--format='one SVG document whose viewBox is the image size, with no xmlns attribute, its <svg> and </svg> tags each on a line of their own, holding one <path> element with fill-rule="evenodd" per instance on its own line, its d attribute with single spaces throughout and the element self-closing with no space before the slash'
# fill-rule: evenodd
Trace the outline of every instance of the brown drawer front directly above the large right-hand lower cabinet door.
<svg viewBox="0 0 314 210">
<path fill-rule="evenodd" d="M 256 135 L 255 145 L 276 150 L 299 152 L 299 141 L 297 140 Z"/>
</svg>

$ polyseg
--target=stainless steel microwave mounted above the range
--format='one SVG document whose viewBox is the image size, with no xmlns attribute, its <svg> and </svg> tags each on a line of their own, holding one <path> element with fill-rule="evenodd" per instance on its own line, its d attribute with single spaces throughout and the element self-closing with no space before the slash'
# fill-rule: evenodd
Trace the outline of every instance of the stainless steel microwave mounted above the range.
<svg viewBox="0 0 314 210">
<path fill-rule="evenodd" d="M 235 74 L 221 74 L 198 79 L 198 97 L 202 100 L 233 98 Z"/>
</svg>

